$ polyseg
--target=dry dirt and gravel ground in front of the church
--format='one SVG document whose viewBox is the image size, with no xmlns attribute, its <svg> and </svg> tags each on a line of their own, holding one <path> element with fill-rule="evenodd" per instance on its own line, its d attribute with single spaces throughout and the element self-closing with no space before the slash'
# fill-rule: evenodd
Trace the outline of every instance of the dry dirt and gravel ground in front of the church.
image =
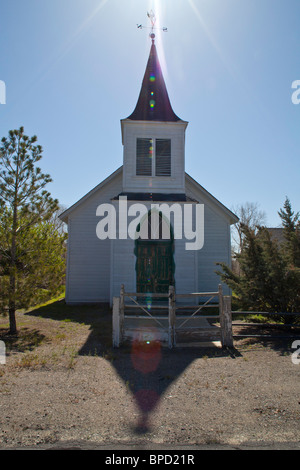
<svg viewBox="0 0 300 470">
<path fill-rule="evenodd" d="M 290 446 L 300 449 L 292 340 L 233 350 L 159 343 L 112 349 L 105 307 L 18 314 L 0 365 L 0 448 Z M 235 330 L 236 331 L 236 330 Z"/>
</svg>

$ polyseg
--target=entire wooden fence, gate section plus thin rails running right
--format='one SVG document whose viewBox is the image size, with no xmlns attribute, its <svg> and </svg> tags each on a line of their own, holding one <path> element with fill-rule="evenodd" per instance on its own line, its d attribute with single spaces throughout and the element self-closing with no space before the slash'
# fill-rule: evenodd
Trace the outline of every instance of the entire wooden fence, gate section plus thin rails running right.
<svg viewBox="0 0 300 470">
<path fill-rule="evenodd" d="M 143 302 L 144 298 L 147 298 L 149 302 Z M 192 299 L 194 298 L 197 301 L 199 298 L 208 298 L 204 303 L 197 305 L 191 304 L 178 304 L 177 300 L 182 300 L 184 298 Z M 131 303 L 126 303 L 125 299 L 129 299 Z M 155 299 L 164 299 L 167 300 L 164 304 L 155 304 L 152 303 L 152 300 Z M 217 299 L 216 302 L 212 303 L 213 299 Z M 151 306 L 149 305 L 151 304 Z M 217 315 L 203 315 L 203 309 L 207 308 L 218 308 L 219 313 Z M 133 310 L 134 314 L 128 314 L 128 310 Z M 162 314 L 155 314 L 153 311 L 161 311 Z M 178 312 L 184 310 L 185 314 L 178 314 Z M 127 311 L 127 313 L 125 313 Z M 141 314 L 140 314 L 140 312 Z M 191 311 L 191 312 L 189 312 Z M 187 313 L 188 312 L 188 313 Z M 222 286 L 219 285 L 218 291 L 216 292 L 193 292 L 187 294 L 176 294 L 173 286 L 169 287 L 168 293 L 140 293 L 140 292 L 126 292 L 124 285 L 121 286 L 120 297 L 114 297 L 113 299 L 113 346 L 119 347 L 120 344 L 126 338 L 126 333 L 128 333 L 128 326 L 126 326 L 126 321 L 129 320 L 152 320 L 161 332 L 161 335 L 164 340 L 168 342 L 170 348 L 176 346 L 176 333 L 182 331 L 193 332 L 196 331 L 199 338 L 205 337 L 205 335 L 210 335 L 214 337 L 216 334 L 221 340 L 223 347 L 233 347 L 233 338 L 298 338 L 299 336 L 290 335 L 263 335 L 263 334 L 234 334 L 233 327 L 236 326 L 245 326 L 245 327 L 269 327 L 278 326 L 276 323 L 232 323 L 233 316 L 241 315 L 265 315 L 268 317 L 295 317 L 300 316 L 299 312 L 259 312 L 259 311 L 245 311 L 245 310 L 231 310 L 231 297 L 224 296 L 222 291 Z M 199 326 L 189 326 L 187 323 L 191 320 L 201 318 L 201 319 L 212 319 L 219 320 L 219 328 L 208 328 L 205 330 L 201 329 Z M 148 323 L 148 322 L 147 322 Z M 297 324 L 280 324 L 281 327 L 298 327 Z M 213 331 L 212 331 L 213 330 Z"/>
</svg>

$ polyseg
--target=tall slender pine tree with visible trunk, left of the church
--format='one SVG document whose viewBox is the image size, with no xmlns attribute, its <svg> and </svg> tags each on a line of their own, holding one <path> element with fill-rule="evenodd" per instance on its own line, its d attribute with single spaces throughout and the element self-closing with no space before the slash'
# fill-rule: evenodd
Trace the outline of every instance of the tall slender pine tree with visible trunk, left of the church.
<svg viewBox="0 0 300 470">
<path fill-rule="evenodd" d="M 25 280 L 28 266 L 31 270 L 34 266 L 28 264 L 29 253 L 34 252 L 33 245 L 28 248 L 28 235 L 31 234 L 38 249 L 38 226 L 41 221 L 47 222 L 58 208 L 58 201 L 44 189 L 52 180 L 37 166 L 43 150 L 36 142 L 36 136 L 29 138 L 20 127 L 9 131 L 0 146 L 0 257 L 6 274 L 2 291 L 7 292 L 11 334 L 17 332 L 15 312 L 21 286 L 25 286 L 20 281 L 21 273 Z M 28 284 L 27 287 L 30 288 Z"/>
</svg>

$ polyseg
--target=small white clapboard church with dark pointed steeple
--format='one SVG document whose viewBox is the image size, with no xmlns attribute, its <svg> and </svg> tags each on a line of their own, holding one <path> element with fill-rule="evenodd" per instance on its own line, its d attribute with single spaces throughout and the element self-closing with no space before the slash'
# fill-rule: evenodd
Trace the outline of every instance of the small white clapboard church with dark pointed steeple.
<svg viewBox="0 0 300 470">
<path fill-rule="evenodd" d="M 136 107 L 121 119 L 123 165 L 60 216 L 67 303 L 111 304 L 121 284 L 145 293 L 218 289 L 216 263 L 231 263 L 238 218 L 185 172 L 187 125 L 172 109 L 152 37 Z"/>
</svg>

